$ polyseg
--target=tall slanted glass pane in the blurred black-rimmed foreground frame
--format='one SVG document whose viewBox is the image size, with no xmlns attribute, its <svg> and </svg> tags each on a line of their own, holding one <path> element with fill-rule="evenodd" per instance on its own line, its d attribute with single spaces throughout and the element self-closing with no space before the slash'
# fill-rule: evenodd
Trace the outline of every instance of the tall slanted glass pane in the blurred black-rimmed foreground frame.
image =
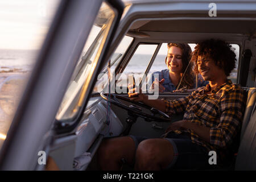
<svg viewBox="0 0 256 182">
<path fill-rule="evenodd" d="M 86 88 L 92 78 L 114 17 L 114 11 L 103 2 L 57 112 L 57 120 L 73 121 L 81 109 Z"/>
</svg>

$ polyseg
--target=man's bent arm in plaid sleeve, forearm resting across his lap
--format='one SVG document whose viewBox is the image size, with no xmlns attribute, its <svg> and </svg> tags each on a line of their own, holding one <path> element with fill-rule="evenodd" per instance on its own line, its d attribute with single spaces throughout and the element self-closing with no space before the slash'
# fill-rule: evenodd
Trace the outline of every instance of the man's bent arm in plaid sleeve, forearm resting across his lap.
<svg viewBox="0 0 256 182">
<path fill-rule="evenodd" d="M 217 127 L 205 127 L 191 121 L 181 120 L 172 123 L 167 131 L 191 129 L 206 142 L 225 147 L 240 129 L 244 102 L 243 90 L 233 90 L 221 100 L 220 124 Z"/>
</svg>

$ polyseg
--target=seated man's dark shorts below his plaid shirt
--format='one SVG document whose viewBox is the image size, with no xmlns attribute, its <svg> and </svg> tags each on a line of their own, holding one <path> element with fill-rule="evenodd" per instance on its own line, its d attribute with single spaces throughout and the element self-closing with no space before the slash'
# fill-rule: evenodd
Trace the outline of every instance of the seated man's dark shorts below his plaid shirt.
<svg viewBox="0 0 256 182">
<path fill-rule="evenodd" d="M 134 140 L 135 147 L 147 137 L 129 135 Z M 209 156 L 205 147 L 193 143 L 187 135 L 169 133 L 166 138 L 174 148 L 174 159 L 168 169 L 205 169 L 209 168 Z"/>
</svg>

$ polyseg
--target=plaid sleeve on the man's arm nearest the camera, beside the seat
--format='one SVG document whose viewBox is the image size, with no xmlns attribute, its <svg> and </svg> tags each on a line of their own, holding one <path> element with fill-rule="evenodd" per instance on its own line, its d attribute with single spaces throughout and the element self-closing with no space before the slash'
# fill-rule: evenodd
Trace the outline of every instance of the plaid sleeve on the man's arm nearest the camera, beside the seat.
<svg viewBox="0 0 256 182">
<path fill-rule="evenodd" d="M 229 90 L 224 94 L 220 104 L 220 123 L 210 128 L 210 143 L 226 147 L 241 129 L 245 93 L 242 89 Z"/>
</svg>

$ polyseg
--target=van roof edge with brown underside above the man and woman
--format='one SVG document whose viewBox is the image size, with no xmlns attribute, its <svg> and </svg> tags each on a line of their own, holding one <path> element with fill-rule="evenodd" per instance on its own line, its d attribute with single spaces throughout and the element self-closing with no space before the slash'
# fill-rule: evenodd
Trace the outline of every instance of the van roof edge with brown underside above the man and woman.
<svg viewBox="0 0 256 182">
<path fill-rule="evenodd" d="M 162 36 L 166 39 L 166 33 L 175 32 L 256 38 L 256 1 L 215 1 L 216 17 L 209 16 L 210 0 L 123 2 L 126 5 L 126 14 L 122 19 L 133 19 L 129 31 L 143 32 L 151 38 L 154 38 L 155 33 L 160 38 L 163 33 Z"/>
</svg>

